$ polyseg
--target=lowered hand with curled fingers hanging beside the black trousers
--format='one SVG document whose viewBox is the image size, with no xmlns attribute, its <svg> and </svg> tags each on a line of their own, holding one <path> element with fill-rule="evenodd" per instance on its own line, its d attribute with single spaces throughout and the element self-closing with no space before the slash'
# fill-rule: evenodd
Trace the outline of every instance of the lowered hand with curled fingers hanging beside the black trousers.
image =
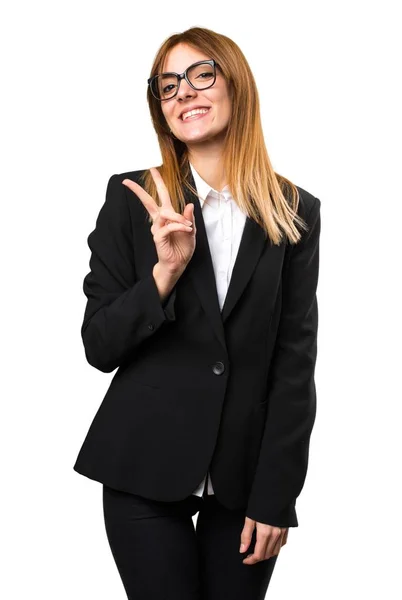
<svg viewBox="0 0 402 600">
<path fill-rule="evenodd" d="M 250 546 L 255 526 L 257 526 L 257 539 L 254 553 L 249 554 L 243 560 L 244 565 L 254 565 L 261 560 L 266 560 L 275 554 L 279 554 L 281 547 L 286 544 L 288 539 L 289 529 L 287 527 L 275 527 L 266 523 L 258 523 L 258 521 L 253 521 L 253 519 L 246 517 L 241 532 L 241 544 L 244 544 L 244 547 L 240 546 L 240 552 L 246 552 Z"/>
</svg>

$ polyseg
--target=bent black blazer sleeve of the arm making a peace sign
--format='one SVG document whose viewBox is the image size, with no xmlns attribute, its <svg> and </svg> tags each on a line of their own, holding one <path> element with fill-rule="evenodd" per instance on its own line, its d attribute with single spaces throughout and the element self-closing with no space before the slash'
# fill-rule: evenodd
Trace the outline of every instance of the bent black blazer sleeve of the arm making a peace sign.
<svg viewBox="0 0 402 600">
<path fill-rule="evenodd" d="M 138 279 L 126 188 L 122 177 L 109 179 L 105 202 L 87 239 L 90 272 L 81 337 L 90 365 L 110 373 L 135 356 L 141 342 L 175 321 L 176 288 L 162 304 L 152 273 Z M 140 200 L 138 200 L 140 201 Z"/>
</svg>

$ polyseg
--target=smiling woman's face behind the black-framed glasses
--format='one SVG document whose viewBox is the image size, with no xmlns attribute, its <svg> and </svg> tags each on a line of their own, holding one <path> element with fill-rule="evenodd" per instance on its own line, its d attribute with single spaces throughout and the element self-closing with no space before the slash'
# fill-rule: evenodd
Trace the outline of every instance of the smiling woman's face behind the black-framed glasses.
<svg viewBox="0 0 402 600">
<path fill-rule="evenodd" d="M 193 63 L 210 59 L 191 46 L 178 44 L 167 55 L 162 71 L 183 73 Z M 194 90 L 182 79 L 177 95 L 161 102 L 161 107 L 169 129 L 186 145 L 219 141 L 224 138 L 231 114 L 228 85 L 216 67 L 216 81 L 212 87 Z M 206 108 L 208 112 L 186 117 L 185 113 L 194 108 Z"/>
</svg>

